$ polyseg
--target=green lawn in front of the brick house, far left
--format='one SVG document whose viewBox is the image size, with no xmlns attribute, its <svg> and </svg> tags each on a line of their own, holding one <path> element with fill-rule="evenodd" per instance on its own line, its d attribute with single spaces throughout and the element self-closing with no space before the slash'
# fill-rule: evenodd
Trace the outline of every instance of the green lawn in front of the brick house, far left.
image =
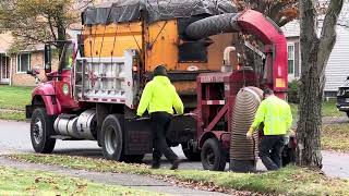
<svg viewBox="0 0 349 196">
<path fill-rule="evenodd" d="M 25 110 L 31 103 L 33 87 L 0 86 L 0 109 Z"/>
</svg>

